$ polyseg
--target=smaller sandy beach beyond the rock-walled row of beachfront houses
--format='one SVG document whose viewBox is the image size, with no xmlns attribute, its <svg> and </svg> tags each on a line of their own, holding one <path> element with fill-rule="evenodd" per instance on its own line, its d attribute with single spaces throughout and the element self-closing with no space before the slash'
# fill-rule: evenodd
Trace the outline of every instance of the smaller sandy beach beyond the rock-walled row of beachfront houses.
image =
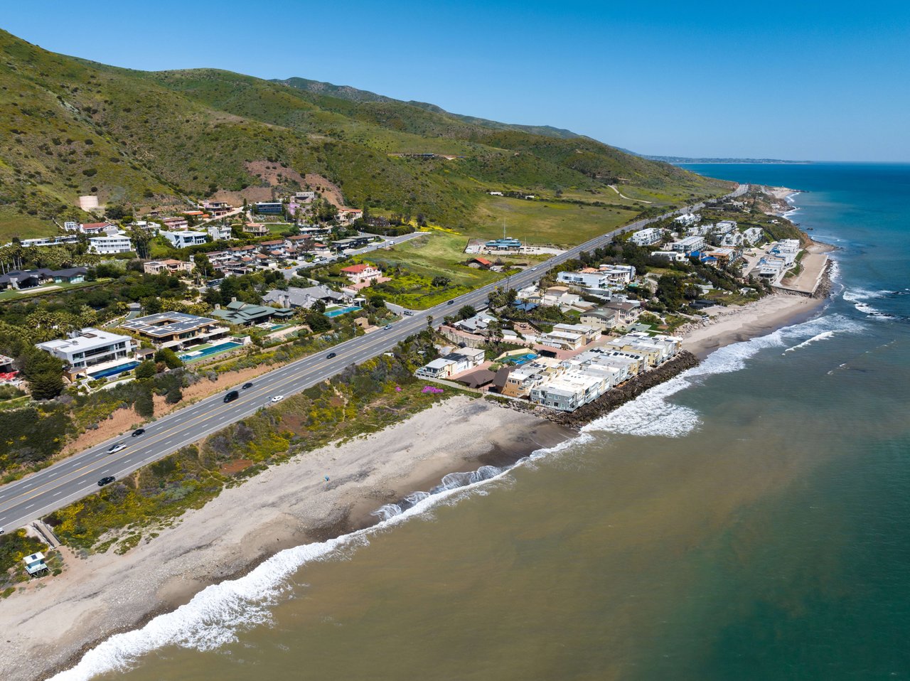
<svg viewBox="0 0 910 681">
<path fill-rule="evenodd" d="M 725 345 L 748 341 L 805 320 L 823 303 L 821 298 L 772 294 L 746 305 L 711 310 L 709 320 L 687 324 L 678 335 L 682 336 L 685 350 L 704 359 Z"/>
</svg>

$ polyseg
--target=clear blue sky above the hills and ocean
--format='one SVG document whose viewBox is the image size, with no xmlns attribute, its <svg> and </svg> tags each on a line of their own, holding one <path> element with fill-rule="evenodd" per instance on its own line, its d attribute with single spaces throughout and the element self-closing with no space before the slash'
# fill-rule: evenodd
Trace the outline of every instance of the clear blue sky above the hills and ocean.
<svg viewBox="0 0 910 681">
<path fill-rule="evenodd" d="M 2 4 L 16 36 L 115 66 L 327 80 L 646 154 L 910 161 L 907 3 Z"/>
</svg>

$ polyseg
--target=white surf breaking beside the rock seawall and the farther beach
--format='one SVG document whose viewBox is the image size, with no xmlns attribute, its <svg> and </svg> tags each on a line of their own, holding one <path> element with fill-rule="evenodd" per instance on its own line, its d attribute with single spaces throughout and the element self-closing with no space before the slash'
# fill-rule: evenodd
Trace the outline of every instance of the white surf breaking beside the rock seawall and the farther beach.
<svg viewBox="0 0 910 681">
<path fill-rule="evenodd" d="M 727 345 L 712 352 L 697 367 L 683 371 L 670 381 L 661 383 L 635 400 L 592 421 L 582 432 L 684 437 L 701 425 L 701 416 L 692 407 L 674 404 L 669 400 L 672 395 L 702 382 L 708 376 L 740 371 L 758 352 L 767 348 L 784 347 L 793 341 L 800 341 L 801 345 L 809 344 L 808 341 L 830 338 L 837 332 L 857 332 L 862 329 L 862 324 L 844 315 L 832 314 L 784 327 L 766 336 Z"/>
</svg>

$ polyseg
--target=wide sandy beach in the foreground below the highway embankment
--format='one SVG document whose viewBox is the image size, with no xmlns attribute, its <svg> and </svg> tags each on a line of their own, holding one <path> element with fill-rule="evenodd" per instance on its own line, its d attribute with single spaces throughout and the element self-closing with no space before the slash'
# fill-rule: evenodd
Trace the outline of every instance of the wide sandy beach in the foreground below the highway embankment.
<svg viewBox="0 0 910 681">
<path fill-rule="evenodd" d="M 453 397 L 383 432 L 302 453 L 127 554 L 67 552 L 63 574 L 0 602 L 0 668 L 7 681 L 46 678 L 93 644 L 284 548 L 375 523 L 370 513 L 382 504 L 430 490 L 447 473 L 515 462 L 570 435 L 526 413 Z"/>
</svg>

